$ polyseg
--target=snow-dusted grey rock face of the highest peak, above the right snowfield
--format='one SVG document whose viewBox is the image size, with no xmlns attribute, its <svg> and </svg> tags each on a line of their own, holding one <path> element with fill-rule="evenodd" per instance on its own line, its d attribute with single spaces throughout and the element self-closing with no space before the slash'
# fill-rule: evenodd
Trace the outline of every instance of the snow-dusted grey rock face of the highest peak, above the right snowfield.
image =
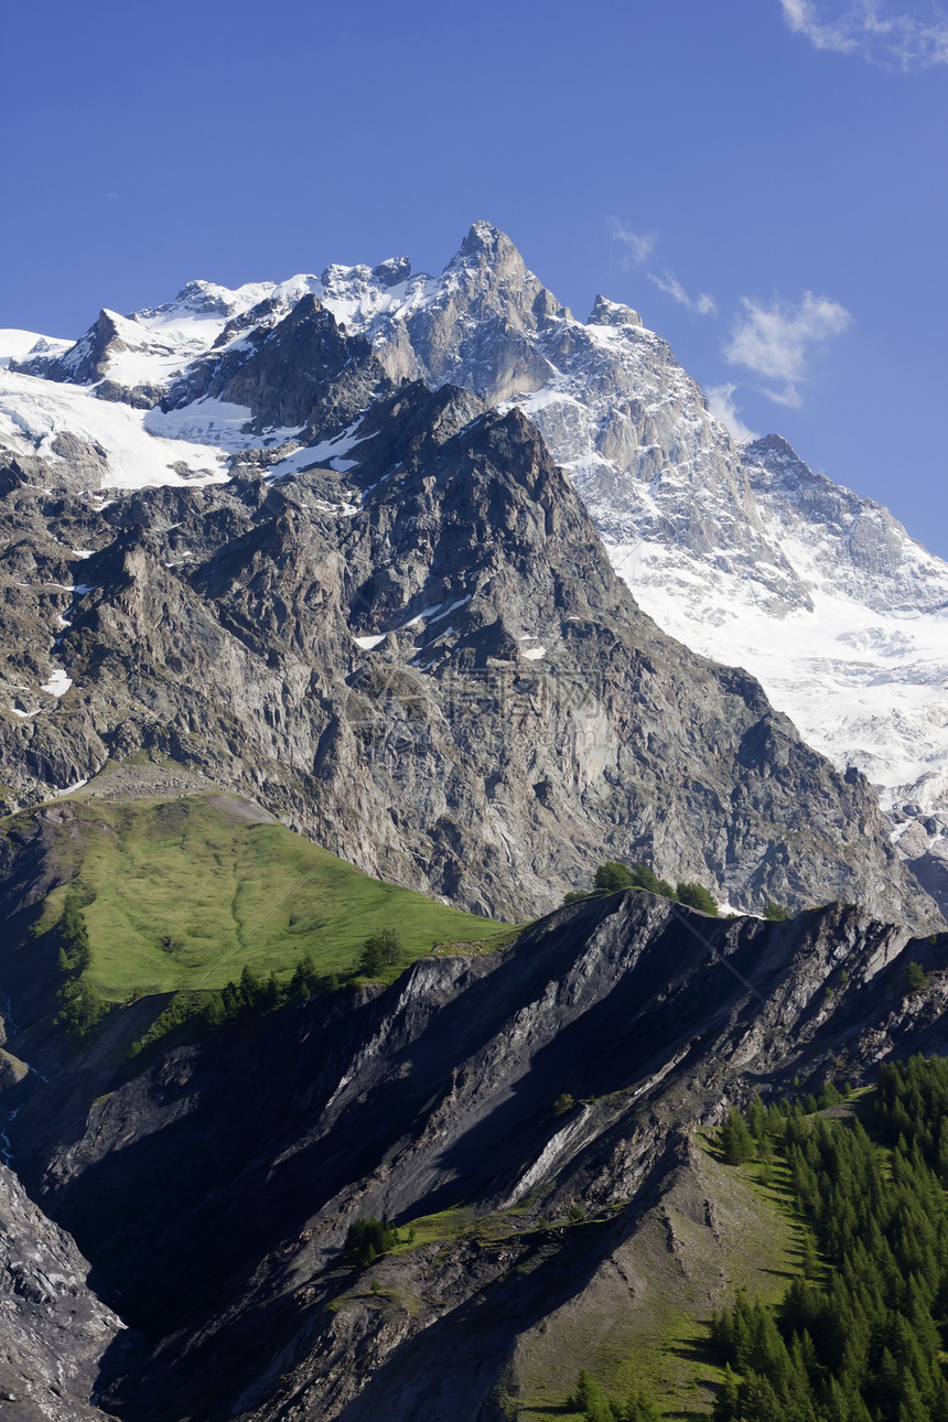
<svg viewBox="0 0 948 1422">
<path fill-rule="evenodd" d="M 806 603 L 762 538 L 728 432 L 635 311 L 597 297 L 588 323 L 577 321 L 486 222 L 441 277 L 412 277 L 397 304 L 372 299 L 347 269 L 333 269 L 323 300 L 370 337 L 394 378 L 452 383 L 490 404 L 516 400 L 607 539 L 713 553 L 769 594 Z"/>
</svg>

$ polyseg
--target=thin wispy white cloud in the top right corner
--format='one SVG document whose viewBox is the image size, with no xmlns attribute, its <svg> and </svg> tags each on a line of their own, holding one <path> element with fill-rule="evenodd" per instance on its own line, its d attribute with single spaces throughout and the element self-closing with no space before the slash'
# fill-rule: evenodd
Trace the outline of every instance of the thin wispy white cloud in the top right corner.
<svg viewBox="0 0 948 1422">
<path fill-rule="evenodd" d="M 780 0 L 780 6 L 790 30 L 817 50 L 905 71 L 948 64 L 948 14 L 932 0 L 915 4 L 914 14 L 893 13 L 887 0 Z"/>
</svg>

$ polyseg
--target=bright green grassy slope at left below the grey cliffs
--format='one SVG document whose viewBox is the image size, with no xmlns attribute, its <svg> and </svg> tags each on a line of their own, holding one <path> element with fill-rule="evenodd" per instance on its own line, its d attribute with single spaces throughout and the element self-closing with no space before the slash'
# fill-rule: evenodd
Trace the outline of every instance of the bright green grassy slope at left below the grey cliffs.
<svg viewBox="0 0 948 1422">
<path fill-rule="evenodd" d="M 82 909 L 90 977 L 108 1001 L 222 987 L 244 964 L 280 977 L 307 953 L 320 973 L 347 973 L 365 937 L 384 927 L 398 931 L 411 958 L 433 941 L 482 941 L 502 931 L 370 879 L 213 796 L 72 806 L 77 820 L 57 849 L 75 879 L 48 896 L 41 927 L 58 919 L 67 892 L 94 894 Z"/>
</svg>

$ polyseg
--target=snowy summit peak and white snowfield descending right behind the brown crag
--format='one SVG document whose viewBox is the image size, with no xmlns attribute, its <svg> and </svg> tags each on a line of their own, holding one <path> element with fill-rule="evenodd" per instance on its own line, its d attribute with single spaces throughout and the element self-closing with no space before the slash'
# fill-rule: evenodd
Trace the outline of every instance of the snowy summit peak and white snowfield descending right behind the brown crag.
<svg viewBox="0 0 948 1422">
<path fill-rule="evenodd" d="M 857 765 L 887 811 L 921 801 L 941 835 L 948 569 L 887 510 L 777 437 L 738 448 L 634 311 L 598 297 L 577 321 L 488 223 L 397 300 L 367 269 L 333 269 L 323 300 L 392 375 L 515 400 L 659 626 L 749 667 L 810 744 Z"/>
</svg>

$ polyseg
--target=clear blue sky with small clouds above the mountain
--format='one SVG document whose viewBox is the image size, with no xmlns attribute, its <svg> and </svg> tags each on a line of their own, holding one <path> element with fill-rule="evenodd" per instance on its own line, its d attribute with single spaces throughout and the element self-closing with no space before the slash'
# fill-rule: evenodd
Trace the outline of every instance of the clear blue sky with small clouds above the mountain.
<svg viewBox="0 0 948 1422">
<path fill-rule="evenodd" d="M 510 233 L 948 556 L 948 14 L 930 0 L 31 0 L 0 326 Z M 735 387 L 729 390 L 729 387 Z"/>
</svg>

